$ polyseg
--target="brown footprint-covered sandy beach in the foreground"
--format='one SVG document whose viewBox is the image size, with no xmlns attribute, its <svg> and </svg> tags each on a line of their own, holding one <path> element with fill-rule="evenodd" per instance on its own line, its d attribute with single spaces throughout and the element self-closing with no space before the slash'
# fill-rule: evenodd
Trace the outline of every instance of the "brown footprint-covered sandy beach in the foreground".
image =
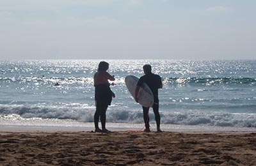
<svg viewBox="0 0 256 166">
<path fill-rule="evenodd" d="M 254 132 L 0 132 L 0 165 L 255 165 Z"/>
</svg>

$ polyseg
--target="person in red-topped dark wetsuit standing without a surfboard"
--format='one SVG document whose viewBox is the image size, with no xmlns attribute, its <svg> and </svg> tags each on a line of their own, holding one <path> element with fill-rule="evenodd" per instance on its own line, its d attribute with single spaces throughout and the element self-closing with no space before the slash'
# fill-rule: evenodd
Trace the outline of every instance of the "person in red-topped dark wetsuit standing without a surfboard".
<svg viewBox="0 0 256 166">
<path fill-rule="evenodd" d="M 108 68 L 109 64 L 105 61 L 101 61 L 98 71 L 93 77 L 96 103 L 96 111 L 94 114 L 95 132 L 109 132 L 109 130 L 106 129 L 106 110 L 108 109 L 108 105 L 111 104 L 112 97 L 115 98 L 115 93 L 111 91 L 108 80 L 115 80 L 115 78 L 107 72 Z M 102 130 L 99 128 L 99 119 Z"/>
</svg>

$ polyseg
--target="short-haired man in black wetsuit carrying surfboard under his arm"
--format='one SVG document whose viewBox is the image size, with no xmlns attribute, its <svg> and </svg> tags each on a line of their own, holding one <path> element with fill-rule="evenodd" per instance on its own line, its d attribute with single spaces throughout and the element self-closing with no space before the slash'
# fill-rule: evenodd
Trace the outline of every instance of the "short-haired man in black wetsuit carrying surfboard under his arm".
<svg viewBox="0 0 256 166">
<path fill-rule="evenodd" d="M 145 75 L 140 77 L 136 91 L 135 91 L 135 100 L 138 103 L 138 93 L 140 90 L 140 87 L 142 86 L 143 83 L 146 83 L 148 87 L 150 87 L 152 93 L 154 94 L 154 105 L 153 105 L 153 110 L 155 114 L 155 119 L 156 119 L 156 125 L 157 125 L 157 132 L 161 132 L 160 130 L 160 114 L 159 114 L 159 100 L 158 100 L 158 89 L 163 87 L 161 77 L 159 75 L 156 75 L 151 72 L 152 68 L 150 64 L 145 64 L 143 66 L 143 72 Z M 143 118 L 144 118 L 144 123 L 145 123 L 145 132 L 150 132 L 150 126 L 149 126 L 149 116 L 148 116 L 148 111 L 149 107 L 142 107 L 143 109 Z"/>
</svg>

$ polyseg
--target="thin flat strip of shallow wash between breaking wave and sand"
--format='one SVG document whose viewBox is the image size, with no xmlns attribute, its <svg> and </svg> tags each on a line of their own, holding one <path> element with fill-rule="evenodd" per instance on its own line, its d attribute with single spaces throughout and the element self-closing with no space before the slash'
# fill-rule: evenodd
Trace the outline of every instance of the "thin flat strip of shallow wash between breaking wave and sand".
<svg viewBox="0 0 256 166">
<path fill-rule="evenodd" d="M 144 124 L 128 123 L 107 123 L 108 130 L 113 132 L 125 132 L 127 130 L 141 130 Z M 151 124 L 151 131 L 156 132 L 156 124 Z M 161 124 L 164 132 L 256 132 L 256 128 L 245 127 L 223 127 L 223 126 L 203 126 L 203 125 L 180 125 L 180 124 Z M 94 123 L 50 123 L 50 124 L 3 124 L 0 123 L 0 132 L 91 132 L 94 131 Z"/>
</svg>

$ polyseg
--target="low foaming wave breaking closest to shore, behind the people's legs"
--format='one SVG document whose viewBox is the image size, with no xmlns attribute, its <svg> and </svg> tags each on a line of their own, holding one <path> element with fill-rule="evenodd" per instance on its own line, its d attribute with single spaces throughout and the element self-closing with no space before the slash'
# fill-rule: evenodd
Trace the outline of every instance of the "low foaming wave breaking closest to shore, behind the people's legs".
<svg viewBox="0 0 256 166">
<path fill-rule="evenodd" d="M 20 117 L 39 117 L 43 119 L 73 119 L 79 122 L 93 122 L 95 107 L 93 105 L 0 105 L 0 119 L 4 115 L 18 114 Z M 179 112 L 161 112 L 161 123 L 236 126 L 256 128 L 256 114 L 207 112 L 203 110 L 180 110 Z M 149 114 L 154 121 L 154 113 Z M 109 107 L 107 112 L 109 123 L 143 123 L 142 111 L 131 111 L 127 107 Z"/>
</svg>

